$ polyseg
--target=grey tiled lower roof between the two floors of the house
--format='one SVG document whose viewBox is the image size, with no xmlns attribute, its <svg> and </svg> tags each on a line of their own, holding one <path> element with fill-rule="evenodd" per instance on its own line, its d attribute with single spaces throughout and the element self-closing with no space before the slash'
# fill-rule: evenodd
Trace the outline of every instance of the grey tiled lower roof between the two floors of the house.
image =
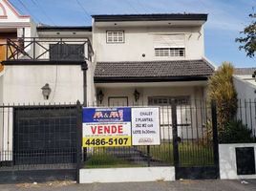
<svg viewBox="0 0 256 191">
<path fill-rule="evenodd" d="M 206 80 L 214 68 L 204 59 L 97 62 L 95 82 Z"/>
</svg>

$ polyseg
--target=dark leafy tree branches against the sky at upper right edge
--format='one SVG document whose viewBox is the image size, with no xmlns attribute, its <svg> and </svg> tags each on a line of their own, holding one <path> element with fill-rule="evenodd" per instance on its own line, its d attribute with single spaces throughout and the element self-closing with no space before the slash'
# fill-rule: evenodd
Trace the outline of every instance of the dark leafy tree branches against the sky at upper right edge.
<svg viewBox="0 0 256 191">
<path fill-rule="evenodd" d="M 256 52 L 256 13 L 249 14 L 252 22 L 249 26 L 245 27 L 243 32 L 244 36 L 236 38 L 236 42 L 241 43 L 239 50 L 244 49 L 245 53 L 249 57 L 253 57 Z"/>
</svg>

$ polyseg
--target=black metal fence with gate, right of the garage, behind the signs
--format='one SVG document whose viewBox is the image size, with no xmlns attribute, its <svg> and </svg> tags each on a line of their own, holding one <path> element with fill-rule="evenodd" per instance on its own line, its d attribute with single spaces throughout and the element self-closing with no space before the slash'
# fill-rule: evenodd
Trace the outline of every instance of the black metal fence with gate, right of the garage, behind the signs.
<svg viewBox="0 0 256 191">
<path fill-rule="evenodd" d="M 215 165 L 210 103 L 168 99 L 150 105 L 160 108 L 160 145 L 87 148 L 83 167 Z"/>
</svg>

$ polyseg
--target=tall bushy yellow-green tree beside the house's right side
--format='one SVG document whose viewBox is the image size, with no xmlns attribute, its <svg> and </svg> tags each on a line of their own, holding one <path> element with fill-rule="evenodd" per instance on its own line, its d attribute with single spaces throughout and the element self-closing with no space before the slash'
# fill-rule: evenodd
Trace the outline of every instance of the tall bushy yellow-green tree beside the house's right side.
<svg viewBox="0 0 256 191">
<path fill-rule="evenodd" d="M 233 84 L 234 67 L 224 62 L 208 83 L 208 98 L 216 101 L 219 133 L 237 113 L 237 93 Z"/>
</svg>

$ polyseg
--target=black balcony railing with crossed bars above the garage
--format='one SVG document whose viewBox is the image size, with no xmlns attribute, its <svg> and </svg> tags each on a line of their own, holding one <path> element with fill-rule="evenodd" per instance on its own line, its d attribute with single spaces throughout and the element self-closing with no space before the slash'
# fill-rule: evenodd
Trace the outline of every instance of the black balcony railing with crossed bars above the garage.
<svg viewBox="0 0 256 191">
<path fill-rule="evenodd" d="M 86 61 L 94 54 L 88 38 L 7 39 L 5 61 Z"/>
</svg>

